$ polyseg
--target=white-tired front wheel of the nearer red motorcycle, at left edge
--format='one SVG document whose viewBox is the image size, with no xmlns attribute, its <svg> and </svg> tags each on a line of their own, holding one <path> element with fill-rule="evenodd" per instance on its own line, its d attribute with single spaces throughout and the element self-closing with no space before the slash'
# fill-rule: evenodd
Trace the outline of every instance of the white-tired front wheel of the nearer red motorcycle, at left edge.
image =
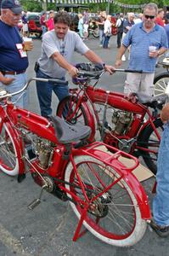
<svg viewBox="0 0 169 256">
<path fill-rule="evenodd" d="M 19 172 L 17 150 L 8 124 L 3 124 L 0 134 L 0 170 L 12 176 Z"/>
</svg>

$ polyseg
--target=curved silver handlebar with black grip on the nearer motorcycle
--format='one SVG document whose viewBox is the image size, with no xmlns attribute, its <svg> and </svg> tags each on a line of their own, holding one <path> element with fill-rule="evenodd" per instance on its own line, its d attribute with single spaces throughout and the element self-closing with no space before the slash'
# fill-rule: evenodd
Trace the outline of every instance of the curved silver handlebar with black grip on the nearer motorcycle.
<svg viewBox="0 0 169 256">
<path fill-rule="evenodd" d="M 6 91 L 6 90 L 1 90 L 1 91 L 0 91 L 0 99 L 7 98 L 7 97 L 11 97 L 11 96 L 20 94 L 21 92 L 23 92 L 24 90 L 27 89 L 27 87 L 29 86 L 29 84 L 31 83 L 31 81 L 41 81 L 41 82 L 52 83 L 52 84 L 65 84 L 65 85 L 68 85 L 68 82 L 67 82 L 67 81 L 60 80 L 60 79 L 40 79 L 40 78 L 32 78 L 32 79 L 29 79 L 29 80 L 28 80 L 28 82 L 25 84 L 25 86 L 24 86 L 21 90 L 15 91 L 15 92 L 13 92 L 13 93 L 8 93 L 8 91 Z M 6 92 L 6 93 L 5 93 L 5 92 Z"/>
</svg>

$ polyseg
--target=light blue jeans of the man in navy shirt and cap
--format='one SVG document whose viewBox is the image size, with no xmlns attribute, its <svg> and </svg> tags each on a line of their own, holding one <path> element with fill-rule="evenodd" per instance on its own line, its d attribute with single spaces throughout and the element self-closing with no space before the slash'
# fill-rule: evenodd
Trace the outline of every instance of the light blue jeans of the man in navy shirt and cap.
<svg viewBox="0 0 169 256">
<path fill-rule="evenodd" d="M 5 75 L 6 78 L 14 79 L 12 84 L 5 85 L 0 83 L 0 88 L 7 90 L 10 93 L 21 90 L 27 82 L 26 73 L 20 73 L 18 75 Z M 14 105 L 20 108 L 28 108 L 28 92 L 25 90 L 24 92 L 17 94 L 12 97 L 12 102 Z"/>
</svg>

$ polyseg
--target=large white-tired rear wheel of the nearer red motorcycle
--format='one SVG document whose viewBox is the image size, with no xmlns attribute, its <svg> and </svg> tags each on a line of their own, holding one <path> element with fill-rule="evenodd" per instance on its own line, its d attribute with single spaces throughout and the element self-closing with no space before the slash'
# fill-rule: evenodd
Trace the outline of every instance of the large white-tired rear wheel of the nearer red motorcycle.
<svg viewBox="0 0 169 256">
<path fill-rule="evenodd" d="M 90 156 L 78 156 L 75 162 L 87 198 L 71 163 L 65 171 L 65 181 L 68 182 L 65 186 L 81 199 L 81 203 L 76 201 L 76 204 L 70 201 L 76 216 L 81 218 L 87 201 L 92 201 L 94 196 L 104 192 L 104 189 L 121 175 Z M 70 196 L 69 193 L 67 195 Z M 89 204 L 83 224 L 100 240 L 119 247 L 132 246 L 144 236 L 146 230 L 146 222 L 141 218 L 138 201 L 122 177 L 118 183 Z"/>
</svg>

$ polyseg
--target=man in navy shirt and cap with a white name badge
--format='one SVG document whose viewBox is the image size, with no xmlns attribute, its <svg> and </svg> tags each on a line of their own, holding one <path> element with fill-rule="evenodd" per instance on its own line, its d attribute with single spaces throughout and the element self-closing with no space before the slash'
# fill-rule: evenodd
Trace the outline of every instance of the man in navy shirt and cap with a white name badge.
<svg viewBox="0 0 169 256">
<path fill-rule="evenodd" d="M 22 8 L 16 0 L 3 0 L 0 16 L 0 88 L 14 92 L 26 83 L 28 67 L 26 49 L 18 30 Z M 32 49 L 32 45 L 31 45 Z M 21 108 L 27 107 L 27 96 L 13 96 L 13 102 Z"/>
</svg>

